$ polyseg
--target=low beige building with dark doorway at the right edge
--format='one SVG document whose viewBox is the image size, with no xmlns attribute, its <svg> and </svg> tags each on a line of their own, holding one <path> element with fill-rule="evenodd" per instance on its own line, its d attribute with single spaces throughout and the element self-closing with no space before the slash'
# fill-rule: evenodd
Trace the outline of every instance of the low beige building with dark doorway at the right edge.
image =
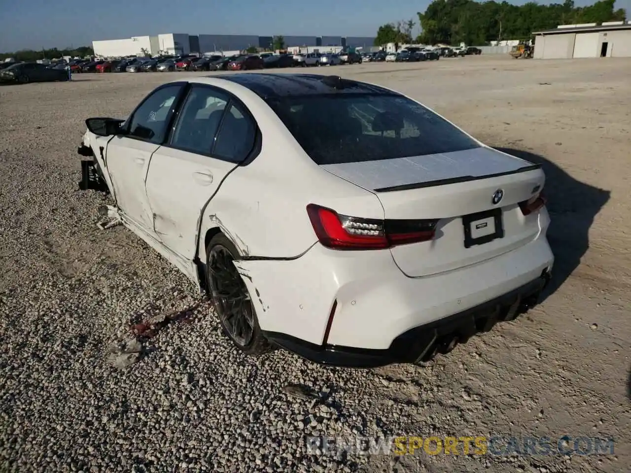
<svg viewBox="0 0 631 473">
<path fill-rule="evenodd" d="M 533 35 L 534 57 L 537 59 L 631 57 L 629 21 L 560 25 Z"/>
</svg>

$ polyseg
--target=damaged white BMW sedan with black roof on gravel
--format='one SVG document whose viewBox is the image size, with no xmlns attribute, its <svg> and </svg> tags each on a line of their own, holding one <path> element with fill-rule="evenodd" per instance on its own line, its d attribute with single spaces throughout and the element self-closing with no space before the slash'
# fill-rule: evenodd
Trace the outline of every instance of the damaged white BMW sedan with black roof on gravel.
<svg viewBox="0 0 631 473">
<path fill-rule="evenodd" d="M 425 361 L 517 317 L 550 278 L 540 166 L 396 91 L 191 78 L 86 125 L 82 189 L 109 190 L 248 354 Z"/>
</svg>

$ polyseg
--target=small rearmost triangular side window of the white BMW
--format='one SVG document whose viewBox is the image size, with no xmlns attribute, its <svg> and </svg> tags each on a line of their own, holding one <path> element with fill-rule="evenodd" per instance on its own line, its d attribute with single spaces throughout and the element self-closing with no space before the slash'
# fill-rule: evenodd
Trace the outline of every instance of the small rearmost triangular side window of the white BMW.
<svg viewBox="0 0 631 473">
<path fill-rule="evenodd" d="M 217 136 L 213 155 L 232 163 L 247 158 L 256 140 L 256 126 L 237 103 L 232 103 Z"/>
</svg>

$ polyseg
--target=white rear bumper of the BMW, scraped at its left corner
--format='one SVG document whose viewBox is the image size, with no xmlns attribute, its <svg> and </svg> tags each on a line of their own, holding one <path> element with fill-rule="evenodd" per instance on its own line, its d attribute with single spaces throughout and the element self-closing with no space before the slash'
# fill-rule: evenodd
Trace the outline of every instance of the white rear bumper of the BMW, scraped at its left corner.
<svg viewBox="0 0 631 473">
<path fill-rule="evenodd" d="M 553 260 L 542 231 L 505 254 L 423 277 L 403 274 L 389 250 L 345 252 L 319 243 L 298 259 L 235 265 L 251 295 L 257 295 L 252 301 L 269 339 L 305 358 L 336 364 L 334 353 L 359 349 L 383 355 L 410 330 L 422 333 L 454 314 L 474 308 L 477 313 L 487 303 L 500 305 L 502 312 L 514 303 L 513 294 L 524 300 L 540 291 Z"/>
</svg>

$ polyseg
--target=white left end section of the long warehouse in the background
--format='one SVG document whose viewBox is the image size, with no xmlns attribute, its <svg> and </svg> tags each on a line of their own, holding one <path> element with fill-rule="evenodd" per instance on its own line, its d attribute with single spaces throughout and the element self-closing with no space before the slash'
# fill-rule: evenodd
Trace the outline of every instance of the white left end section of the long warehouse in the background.
<svg viewBox="0 0 631 473">
<path fill-rule="evenodd" d="M 184 33 L 165 33 L 156 36 L 134 36 L 118 40 L 96 40 L 92 42 L 94 54 L 100 57 L 122 57 L 131 55 L 189 54 L 191 38 Z M 196 51 L 197 52 L 197 51 Z"/>
</svg>

